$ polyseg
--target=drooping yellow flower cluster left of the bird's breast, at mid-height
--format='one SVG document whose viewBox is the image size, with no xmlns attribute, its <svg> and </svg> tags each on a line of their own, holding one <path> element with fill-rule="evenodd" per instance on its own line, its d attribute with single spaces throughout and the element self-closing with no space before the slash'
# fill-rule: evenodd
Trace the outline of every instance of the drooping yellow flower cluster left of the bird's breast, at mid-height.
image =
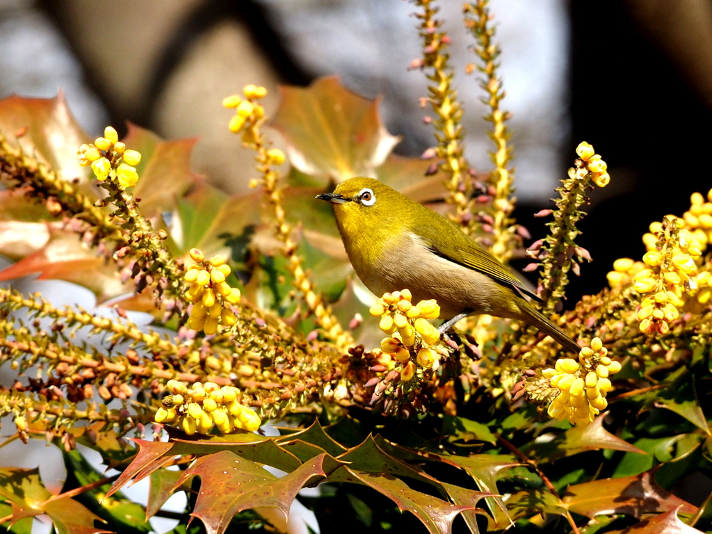
<svg viewBox="0 0 712 534">
<path fill-rule="evenodd" d="M 239 303 L 240 290 L 225 281 L 230 266 L 225 263 L 224 256 L 216 254 L 206 260 L 201 251 L 192 248 L 190 257 L 196 263 L 189 266 L 183 276 L 190 283 L 187 297 L 193 303 L 187 327 L 211 335 L 217 332 L 218 325 L 234 325 L 235 313 L 230 306 Z"/>
</svg>

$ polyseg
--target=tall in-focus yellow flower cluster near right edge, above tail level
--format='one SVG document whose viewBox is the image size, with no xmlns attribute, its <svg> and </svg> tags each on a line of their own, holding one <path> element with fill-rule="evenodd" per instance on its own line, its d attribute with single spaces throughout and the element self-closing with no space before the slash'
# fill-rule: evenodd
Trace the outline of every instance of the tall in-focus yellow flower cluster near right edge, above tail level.
<svg viewBox="0 0 712 534">
<path fill-rule="evenodd" d="M 678 229 L 674 217 L 665 217 L 656 232 L 655 248 L 647 251 L 643 262 L 647 268 L 633 277 L 634 288 L 647 296 L 637 313 L 640 330 L 645 333 L 665 334 L 669 323 L 679 317 L 684 296 L 696 286 L 695 263 L 701 246 L 686 229 Z M 651 225 L 657 230 L 657 225 Z"/>
</svg>

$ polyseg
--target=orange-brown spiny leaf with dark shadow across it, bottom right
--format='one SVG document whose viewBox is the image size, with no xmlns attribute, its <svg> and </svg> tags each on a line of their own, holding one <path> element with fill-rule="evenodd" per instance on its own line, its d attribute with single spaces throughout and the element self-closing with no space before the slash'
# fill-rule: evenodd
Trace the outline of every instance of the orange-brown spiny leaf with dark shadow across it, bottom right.
<svg viewBox="0 0 712 534">
<path fill-rule="evenodd" d="M 680 509 L 695 513 L 696 507 L 661 488 L 654 470 L 622 478 L 604 478 L 569 486 L 563 496 L 566 507 L 575 513 L 596 515 L 624 513 L 640 518 L 643 513 Z"/>
</svg>

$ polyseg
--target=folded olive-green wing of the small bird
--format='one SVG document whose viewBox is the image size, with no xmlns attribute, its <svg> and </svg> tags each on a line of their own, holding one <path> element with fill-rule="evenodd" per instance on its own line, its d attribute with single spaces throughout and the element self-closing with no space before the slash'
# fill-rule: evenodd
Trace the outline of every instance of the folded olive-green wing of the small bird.
<svg viewBox="0 0 712 534">
<path fill-rule="evenodd" d="M 497 258 L 464 234 L 447 219 L 417 225 L 413 231 L 424 239 L 433 253 L 461 266 L 480 271 L 505 286 L 511 286 L 531 298 L 541 299 L 516 278 Z M 455 230 L 455 231 L 453 231 Z"/>
</svg>

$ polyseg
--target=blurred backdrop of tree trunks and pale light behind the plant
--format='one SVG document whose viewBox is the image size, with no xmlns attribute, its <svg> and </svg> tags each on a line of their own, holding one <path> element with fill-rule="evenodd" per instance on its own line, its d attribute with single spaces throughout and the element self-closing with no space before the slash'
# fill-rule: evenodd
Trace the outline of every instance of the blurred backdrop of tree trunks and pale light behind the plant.
<svg viewBox="0 0 712 534">
<path fill-rule="evenodd" d="M 491 167 L 486 112 L 461 3 L 441 2 L 451 64 L 465 107 L 466 156 Z M 681 215 L 693 191 L 712 186 L 712 2 L 494 0 L 501 75 L 513 112 L 516 216 L 534 238 L 578 142 L 609 164 L 592 194 L 581 244 L 594 262 L 572 283 L 575 302 L 605 283 L 611 262 L 644 251 L 653 220 Z M 199 137 L 194 169 L 230 192 L 246 189 L 252 155 L 227 130 L 220 103 L 248 83 L 336 74 L 350 90 L 382 96 L 396 152 L 434 143 L 419 107 L 426 80 L 408 71 L 420 55 L 414 4 L 404 0 L 0 0 L 0 97 L 51 97 L 58 88 L 91 135 L 130 120 L 166 138 Z M 277 137 L 277 134 L 275 134 Z M 417 177 L 414 177 L 417 179 Z"/>
</svg>

